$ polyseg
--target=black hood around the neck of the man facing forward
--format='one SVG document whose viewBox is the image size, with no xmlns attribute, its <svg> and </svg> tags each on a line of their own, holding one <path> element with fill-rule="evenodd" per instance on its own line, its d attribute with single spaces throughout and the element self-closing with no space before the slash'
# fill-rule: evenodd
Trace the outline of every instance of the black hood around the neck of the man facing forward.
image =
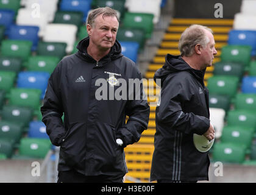
<svg viewBox="0 0 256 195">
<path fill-rule="evenodd" d="M 79 55 L 82 55 L 86 60 L 91 61 L 91 60 L 94 60 L 94 59 L 87 52 L 89 42 L 90 42 L 90 37 L 86 37 L 86 38 L 79 41 L 76 48 L 78 49 L 78 54 Z M 105 55 L 104 57 L 102 57 L 101 60 L 104 60 L 105 63 L 106 63 L 106 62 L 109 62 L 111 60 L 118 59 L 119 57 L 123 56 L 123 54 L 121 54 L 121 52 L 122 52 L 121 44 L 118 42 L 118 40 L 116 40 L 115 44 L 110 49 L 110 52 L 107 55 Z M 101 61 L 101 60 L 99 60 L 99 61 Z"/>
</svg>

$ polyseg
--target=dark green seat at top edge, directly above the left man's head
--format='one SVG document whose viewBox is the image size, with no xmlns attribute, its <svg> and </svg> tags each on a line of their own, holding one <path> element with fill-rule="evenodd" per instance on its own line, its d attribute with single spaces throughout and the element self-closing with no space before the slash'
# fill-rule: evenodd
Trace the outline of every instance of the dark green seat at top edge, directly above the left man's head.
<svg viewBox="0 0 256 195">
<path fill-rule="evenodd" d="M 125 7 L 124 7 L 125 1 L 122 0 L 95 0 L 92 3 L 93 8 L 97 7 L 111 7 L 114 10 L 117 10 L 120 13 L 120 16 L 124 15 Z"/>
</svg>

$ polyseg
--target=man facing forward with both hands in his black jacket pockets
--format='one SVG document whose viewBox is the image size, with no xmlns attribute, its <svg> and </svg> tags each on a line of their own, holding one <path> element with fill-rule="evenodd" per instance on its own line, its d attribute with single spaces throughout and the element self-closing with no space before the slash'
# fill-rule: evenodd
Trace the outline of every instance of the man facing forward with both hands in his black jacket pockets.
<svg viewBox="0 0 256 195">
<path fill-rule="evenodd" d="M 52 144 L 60 146 L 58 182 L 123 182 L 124 147 L 140 140 L 148 127 L 149 105 L 142 83 L 135 90 L 124 85 L 130 79 L 141 80 L 141 74 L 121 54 L 118 26 L 115 10 L 90 12 L 88 37 L 49 78 L 41 113 Z M 115 98 L 116 94 L 123 98 Z"/>
</svg>

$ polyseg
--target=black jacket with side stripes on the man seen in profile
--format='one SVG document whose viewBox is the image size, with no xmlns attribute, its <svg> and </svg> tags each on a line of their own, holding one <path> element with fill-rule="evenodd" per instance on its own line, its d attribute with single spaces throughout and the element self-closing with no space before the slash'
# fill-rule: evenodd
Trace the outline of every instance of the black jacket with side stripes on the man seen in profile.
<svg viewBox="0 0 256 195">
<path fill-rule="evenodd" d="M 155 73 L 162 89 L 155 110 L 151 180 L 208 180 L 208 152 L 197 151 L 193 144 L 193 133 L 202 135 L 210 127 L 204 73 L 170 54 Z"/>
</svg>

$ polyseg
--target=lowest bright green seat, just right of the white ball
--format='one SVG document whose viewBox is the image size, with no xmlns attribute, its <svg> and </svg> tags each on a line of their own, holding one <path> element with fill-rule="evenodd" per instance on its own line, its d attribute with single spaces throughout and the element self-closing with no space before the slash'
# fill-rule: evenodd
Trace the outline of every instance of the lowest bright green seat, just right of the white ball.
<svg viewBox="0 0 256 195">
<path fill-rule="evenodd" d="M 243 163 L 246 157 L 246 148 L 240 144 L 215 143 L 213 161 L 223 163 Z"/>
</svg>

